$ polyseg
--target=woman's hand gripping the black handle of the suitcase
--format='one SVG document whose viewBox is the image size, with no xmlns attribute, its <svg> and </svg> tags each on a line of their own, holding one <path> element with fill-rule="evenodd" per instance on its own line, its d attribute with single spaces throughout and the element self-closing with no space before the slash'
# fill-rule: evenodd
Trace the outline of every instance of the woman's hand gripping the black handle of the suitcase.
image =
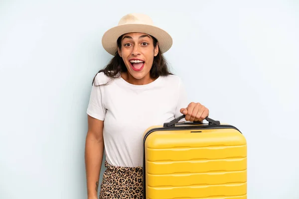
<svg viewBox="0 0 299 199">
<path fill-rule="evenodd" d="M 185 115 L 186 121 L 202 121 L 209 116 L 209 109 L 200 103 L 189 103 L 187 108 L 181 108 L 180 112 Z"/>
</svg>

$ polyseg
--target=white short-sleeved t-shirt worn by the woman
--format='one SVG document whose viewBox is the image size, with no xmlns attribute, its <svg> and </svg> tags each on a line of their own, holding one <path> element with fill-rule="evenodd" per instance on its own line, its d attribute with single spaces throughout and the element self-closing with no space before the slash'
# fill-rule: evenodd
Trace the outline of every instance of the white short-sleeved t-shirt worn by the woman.
<svg viewBox="0 0 299 199">
<path fill-rule="evenodd" d="M 95 86 L 106 84 L 105 86 Z M 143 136 L 152 125 L 163 125 L 182 115 L 186 93 L 179 77 L 159 77 L 147 85 L 132 85 L 123 78 L 98 73 L 87 114 L 104 120 L 104 146 L 109 164 L 143 166 Z"/>
</svg>

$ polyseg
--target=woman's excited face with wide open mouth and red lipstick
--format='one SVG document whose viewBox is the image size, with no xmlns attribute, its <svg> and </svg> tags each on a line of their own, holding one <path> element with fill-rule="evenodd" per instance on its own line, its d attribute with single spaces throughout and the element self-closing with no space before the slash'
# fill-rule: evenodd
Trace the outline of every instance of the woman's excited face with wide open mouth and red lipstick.
<svg viewBox="0 0 299 199">
<path fill-rule="evenodd" d="M 158 45 L 153 46 L 153 39 L 146 33 L 128 33 L 123 35 L 122 47 L 118 49 L 128 69 L 129 78 L 141 84 L 147 84 L 153 58 L 158 54 Z"/>
</svg>

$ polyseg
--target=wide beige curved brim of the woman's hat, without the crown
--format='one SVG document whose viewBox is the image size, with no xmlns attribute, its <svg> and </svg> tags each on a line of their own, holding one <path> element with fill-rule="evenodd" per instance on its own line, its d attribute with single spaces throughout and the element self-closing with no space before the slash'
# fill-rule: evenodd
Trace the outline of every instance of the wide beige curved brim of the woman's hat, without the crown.
<svg viewBox="0 0 299 199">
<path fill-rule="evenodd" d="M 131 32 L 143 32 L 155 37 L 158 40 L 161 53 L 165 53 L 172 46 L 171 36 L 161 28 L 145 24 L 125 24 L 113 27 L 104 33 L 102 37 L 104 49 L 114 56 L 117 52 L 117 39 L 121 35 Z"/>
</svg>

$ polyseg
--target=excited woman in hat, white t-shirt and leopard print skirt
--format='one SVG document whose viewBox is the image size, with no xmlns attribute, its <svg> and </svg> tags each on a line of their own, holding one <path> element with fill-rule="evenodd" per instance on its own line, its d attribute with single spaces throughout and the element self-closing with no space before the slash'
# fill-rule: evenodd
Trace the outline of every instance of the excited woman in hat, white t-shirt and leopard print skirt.
<svg viewBox="0 0 299 199">
<path fill-rule="evenodd" d="M 97 198 L 104 145 L 107 170 L 100 199 L 142 199 L 145 130 L 181 114 L 202 121 L 209 110 L 187 103 L 181 79 L 168 71 L 162 55 L 172 39 L 149 16 L 124 16 L 103 35 L 102 44 L 114 58 L 95 76 L 87 109 L 88 199 Z"/>
</svg>

